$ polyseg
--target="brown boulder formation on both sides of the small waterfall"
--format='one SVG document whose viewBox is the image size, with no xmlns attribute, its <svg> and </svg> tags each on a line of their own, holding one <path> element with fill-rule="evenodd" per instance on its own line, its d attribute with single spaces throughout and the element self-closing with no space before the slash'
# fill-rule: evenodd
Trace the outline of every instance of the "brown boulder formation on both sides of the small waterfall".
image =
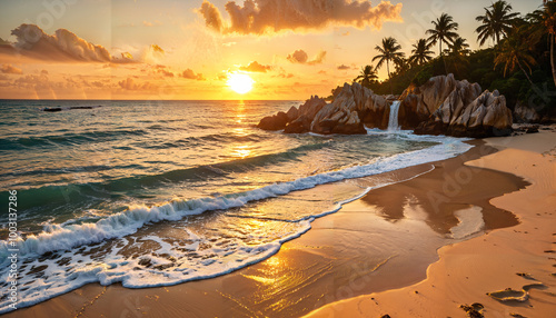
<svg viewBox="0 0 556 318">
<path fill-rule="evenodd" d="M 265 117 L 258 127 L 286 133 L 366 133 L 365 127 L 388 127 L 394 100 L 359 83 L 345 83 L 331 103 L 311 97 L 299 109 Z M 415 133 L 481 138 L 512 132 L 512 111 L 504 96 L 497 90 L 481 92 L 478 83 L 458 81 L 453 74 L 409 87 L 399 100 L 398 125 Z"/>
</svg>

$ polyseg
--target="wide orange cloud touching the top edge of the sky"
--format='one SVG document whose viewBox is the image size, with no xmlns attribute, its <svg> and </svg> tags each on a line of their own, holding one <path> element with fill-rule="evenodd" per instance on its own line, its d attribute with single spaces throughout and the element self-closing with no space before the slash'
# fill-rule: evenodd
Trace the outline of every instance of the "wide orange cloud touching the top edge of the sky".
<svg viewBox="0 0 556 318">
<path fill-rule="evenodd" d="M 380 29 L 383 21 L 401 21 L 401 3 L 381 1 L 371 7 L 359 0 L 246 0 L 226 3 L 230 17 L 224 21 L 218 8 L 205 0 L 197 10 L 208 28 L 221 33 L 272 34 L 280 31 L 319 30 L 329 26 Z"/>
</svg>

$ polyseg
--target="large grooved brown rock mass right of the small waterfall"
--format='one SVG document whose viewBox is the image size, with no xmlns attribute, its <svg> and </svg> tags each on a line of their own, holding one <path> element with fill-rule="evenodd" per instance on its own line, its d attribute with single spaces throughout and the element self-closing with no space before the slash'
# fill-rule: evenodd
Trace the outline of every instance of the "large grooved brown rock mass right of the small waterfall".
<svg viewBox="0 0 556 318">
<path fill-rule="evenodd" d="M 497 90 L 480 91 L 478 83 L 458 81 L 451 74 L 435 77 L 403 95 L 404 115 L 399 116 L 405 125 L 415 125 L 416 118 L 421 120 L 426 110 L 436 107 L 427 119 L 414 126 L 414 132 L 419 135 L 474 138 L 509 135 L 512 111 L 506 99 Z"/>
</svg>

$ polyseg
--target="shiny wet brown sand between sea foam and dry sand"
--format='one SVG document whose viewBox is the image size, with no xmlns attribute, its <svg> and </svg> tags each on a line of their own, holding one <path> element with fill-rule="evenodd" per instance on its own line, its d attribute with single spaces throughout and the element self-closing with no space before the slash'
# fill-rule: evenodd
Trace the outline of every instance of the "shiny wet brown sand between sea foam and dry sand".
<svg viewBox="0 0 556 318">
<path fill-rule="evenodd" d="M 370 299 L 366 295 L 423 281 L 441 247 L 444 251 L 469 238 L 481 240 L 485 231 L 495 229 L 513 231 L 518 219 L 510 207 L 497 207 L 490 199 L 529 183 L 489 166 L 464 165 L 496 156 L 490 155 L 495 148 L 474 142 L 477 147 L 457 158 L 345 181 L 371 187 L 423 173 L 371 190 L 315 220 L 311 230 L 275 256 L 229 275 L 146 289 L 91 284 L 6 317 L 299 317 L 327 304 L 316 315 L 336 316 L 335 301 L 356 301 L 350 298 L 361 295 Z M 334 196 L 335 189 L 326 185 L 308 191 Z M 469 209 L 481 212 L 463 218 Z M 455 231 L 459 223 L 466 227 Z"/>
</svg>

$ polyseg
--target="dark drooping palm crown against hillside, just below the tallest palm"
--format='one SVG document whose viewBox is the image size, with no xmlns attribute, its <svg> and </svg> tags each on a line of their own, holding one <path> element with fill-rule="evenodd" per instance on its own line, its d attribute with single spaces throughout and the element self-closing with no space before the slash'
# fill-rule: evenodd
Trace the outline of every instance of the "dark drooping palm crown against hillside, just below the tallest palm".
<svg viewBox="0 0 556 318">
<path fill-rule="evenodd" d="M 498 64 L 504 64 L 504 76 L 513 72 L 516 67 L 524 72 L 527 80 L 534 86 L 529 74 L 525 70 L 527 68 L 529 73 L 530 67 L 536 63 L 535 58 L 529 54 L 530 43 L 528 42 L 528 32 L 525 28 L 514 28 L 508 37 L 500 43 L 500 50 L 494 60 L 495 68 Z"/>
</svg>

